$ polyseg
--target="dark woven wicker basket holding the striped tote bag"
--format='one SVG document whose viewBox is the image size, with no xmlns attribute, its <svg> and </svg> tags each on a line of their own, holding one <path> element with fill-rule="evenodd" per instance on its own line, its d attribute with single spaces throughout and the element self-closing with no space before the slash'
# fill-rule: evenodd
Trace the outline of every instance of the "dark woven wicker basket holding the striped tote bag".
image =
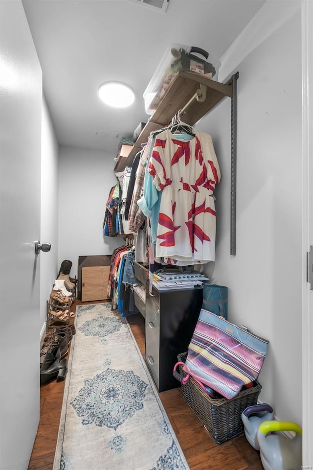
<svg viewBox="0 0 313 470">
<path fill-rule="evenodd" d="M 187 352 L 178 355 L 179 362 L 185 362 Z M 186 373 L 179 365 L 179 373 Z M 241 414 L 247 406 L 255 405 L 261 392 L 262 385 L 255 380 L 256 385 L 239 392 L 228 400 L 226 398 L 212 399 L 201 389 L 200 385 L 190 377 L 181 385 L 182 395 L 192 411 L 196 414 L 205 429 L 216 444 L 222 444 L 244 432 Z"/>
</svg>

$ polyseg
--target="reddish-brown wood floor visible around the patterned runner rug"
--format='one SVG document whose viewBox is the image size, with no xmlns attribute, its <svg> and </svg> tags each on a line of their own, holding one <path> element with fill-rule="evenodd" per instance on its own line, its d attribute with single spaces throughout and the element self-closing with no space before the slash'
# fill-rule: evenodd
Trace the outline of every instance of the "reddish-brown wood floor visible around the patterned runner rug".
<svg viewBox="0 0 313 470">
<path fill-rule="evenodd" d="M 99 303 L 101 302 L 103 301 L 99 301 Z M 90 303 L 94 304 L 96 302 Z M 75 311 L 77 305 L 88 304 L 88 302 L 82 303 L 76 300 L 72 305 L 71 311 Z M 139 349 L 144 354 L 144 319 L 138 314 L 128 317 L 128 322 Z M 56 381 L 53 381 L 41 387 L 40 423 L 28 470 L 52 469 L 63 392 L 64 382 L 56 383 Z M 176 432 L 190 470 L 263 469 L 259 452 L 247 443 L 244 436 L 232 439 L 220 446 L 215 444 L 183 399 L 179 388 L 162 392 L 159 394 L 159 397 Z M 93 469 L 90 468 L 88 470 Z"/>
</svg>

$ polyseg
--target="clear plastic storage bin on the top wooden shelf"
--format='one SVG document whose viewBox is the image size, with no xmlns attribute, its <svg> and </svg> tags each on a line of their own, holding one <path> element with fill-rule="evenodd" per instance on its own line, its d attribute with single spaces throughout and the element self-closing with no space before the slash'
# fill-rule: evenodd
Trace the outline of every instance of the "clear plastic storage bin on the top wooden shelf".
<svg viewBox="0 0 313 470">
<path fill-rule="evenodd" d="M 194 55 L 195 53 L 198 55 Z M 199 47 L 172 44 L 166 50 L 143 94 L 146 113 L 152 115 L 155 112 L 178 71 L 201 73 L 207 78 L 217 80 L 220 67 L 219 60 L 214 59 Z"/>
</svg>

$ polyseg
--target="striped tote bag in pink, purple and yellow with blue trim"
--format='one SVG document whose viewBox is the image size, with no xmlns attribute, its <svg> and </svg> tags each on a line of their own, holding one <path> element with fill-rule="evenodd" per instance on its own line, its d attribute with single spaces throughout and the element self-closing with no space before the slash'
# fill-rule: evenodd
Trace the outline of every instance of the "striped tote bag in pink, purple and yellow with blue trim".
<svg viewBox="0 0 313 470">
<path fill-rule="evenodd" d="M 183 370 L 227 399 L 259 376 L 268 341 L 201 310 Z"/>
</svg>

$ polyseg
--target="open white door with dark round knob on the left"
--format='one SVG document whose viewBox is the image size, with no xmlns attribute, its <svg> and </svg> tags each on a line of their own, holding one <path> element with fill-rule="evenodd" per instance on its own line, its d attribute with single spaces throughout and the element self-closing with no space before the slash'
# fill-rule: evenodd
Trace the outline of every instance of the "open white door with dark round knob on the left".
<svg viewBox="0 0 313 470">
<path fill-rule="evenodd" d="M 42 71 L 21 0 L 0 1 L 0 468 L 25 470 L 39 423 Z M 47 241 L 47 240 L 42 240 Z"/>
</svg>

